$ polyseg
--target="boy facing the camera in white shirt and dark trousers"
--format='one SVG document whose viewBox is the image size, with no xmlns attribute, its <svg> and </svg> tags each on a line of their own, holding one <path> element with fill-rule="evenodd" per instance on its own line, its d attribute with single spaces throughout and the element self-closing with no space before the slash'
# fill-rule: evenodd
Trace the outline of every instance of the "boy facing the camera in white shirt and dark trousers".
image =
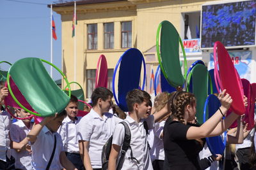
<svg viewBox="0 0 256 170">
<path fill-rule="evenodd" d="M 83 162 L 80 157 L 78 140 L 77 140 L 77 124 L 81 117 L 76 117 L 78 112 L 78 99 L 76 96 L 70 97 L 68 106 L 65 108 L 67 117 L 64 118 L 58 133 L 61 136 L 63 147 L 70 160 L 77 169 L 84 169 Z"/>
</svg>

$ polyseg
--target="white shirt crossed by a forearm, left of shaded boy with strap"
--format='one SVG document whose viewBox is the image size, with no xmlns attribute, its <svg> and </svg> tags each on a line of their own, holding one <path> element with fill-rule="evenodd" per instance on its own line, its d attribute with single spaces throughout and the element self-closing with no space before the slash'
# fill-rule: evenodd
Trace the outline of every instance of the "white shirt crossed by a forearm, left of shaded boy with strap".
<svg viewBox="0 0 256 170">
<path fill-rule="evenodd" d="M 20 143 L 20 141 L 27 137 L 32 127 L 32 123 L 30 123 L 28 128 L 22 120 L 17 120 L 17 122 L 10 126 L 10 138 L 12 141 Z M 16 169 L 33 169 L 31 165 L 31 153 L 29 153 L 27 150 L 20 150 L 20 152 L 17 152 L 13 149 L 12 155 L 15 158 Z"/>
</svg>

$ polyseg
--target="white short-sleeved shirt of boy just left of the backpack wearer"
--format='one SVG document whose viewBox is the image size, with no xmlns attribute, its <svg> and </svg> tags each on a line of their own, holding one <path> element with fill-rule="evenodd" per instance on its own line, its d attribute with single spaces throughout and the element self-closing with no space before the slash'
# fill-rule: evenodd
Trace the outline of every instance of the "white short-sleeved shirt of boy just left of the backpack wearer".
<svg viewBox="0 0 256 170">
<path fill-rule="evenodd" d="M 77 138 L 82 141 L 90 141 L 88 153 L 93 169 L 102 167 L 102 147 L 113 134 L 116 124 L 121 121 L 111 113 L 103 113 L 102 118 L 93 109 L 81 118 L 77 125 Z"/>
</svg>

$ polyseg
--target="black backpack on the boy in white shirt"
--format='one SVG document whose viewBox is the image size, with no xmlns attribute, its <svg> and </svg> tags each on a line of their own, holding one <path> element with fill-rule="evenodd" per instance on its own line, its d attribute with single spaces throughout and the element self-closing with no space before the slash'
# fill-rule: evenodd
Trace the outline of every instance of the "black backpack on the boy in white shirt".
<svg viewBox="0 0 256 170">
<path fill-rule="evenodd" d="M 126 122 L 120 122 L 120 124 L 124 125 L 124 143 L 122 145 L 122 148 L 120 150 L 121 152 L 121 157 L 120 160 L 118 162 L 118 166 L 116 169 L 121 169 L 124 163 L 124 156 L 125 153 L 127 152 L 128 148 L 131 149 L 130 146 L 130 142 L 131 142 L 131 131 L 129 126 L 127 125 Z M 101 155 L 101 162 L 102 162 L 102 170 L 107 170 L 108 169 L 108 162 L 109 162 L 109 155 L 111 152 L 111 147 L 112 147 L 112 139 L 113 136 L 111 136 L 108 141 L 105 143 L 105 145 L 102 148 L 102 155 Z M 131 157 L 129 157 L 129 159 L 133 159 L 136 160 L 138 162 L 138 164 L 140 164 L 140 162 L 133 157 L 132 155 L 132 149 L 131 149 Z"/>
</svg>

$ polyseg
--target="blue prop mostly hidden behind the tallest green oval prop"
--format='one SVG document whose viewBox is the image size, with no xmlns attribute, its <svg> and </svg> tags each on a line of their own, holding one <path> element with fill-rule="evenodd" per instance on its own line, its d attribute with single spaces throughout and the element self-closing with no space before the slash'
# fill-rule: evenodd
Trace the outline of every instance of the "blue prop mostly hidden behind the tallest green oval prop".
<svg viewBox="0 0 256 170">
<path fill-rule="evenodd" d="M 155 84 L 154 84 L 154 89 L 155 89 L 155 96 L 157 95 L 156 94 L 156 89 L 157 89 L 157 85 L 156 85 L 156 80 L 157 80 L 157 78 L 158 78 L 158 72 L 159 71 L 161 71 L 161 69 L 159 69 L 159 67 L 160 67 L 160 65 L 158 65 L 158 67 L 157 67 L 157 69 L 156 69 L 156 78 L 155 78 Z M 166 78 L 164 77 L 164 74 L 163 74 L 163 72 L 161 71 L 160 72 L 160 76 L 161 76 L 161 78 L 160 78 L 160 80 L 161 80 L 161 90 L 162 90 L 162 92 L 168 92 L 168 93 L 171 93 L 171 92 L 175 92 L 176 91 L 176 89 L 174 88 L 174 87 L 172 87 L 172 85 L 170 85 L 169 83 L 168 83 L 168 81 L 166 80 Z"/>
</svg>

